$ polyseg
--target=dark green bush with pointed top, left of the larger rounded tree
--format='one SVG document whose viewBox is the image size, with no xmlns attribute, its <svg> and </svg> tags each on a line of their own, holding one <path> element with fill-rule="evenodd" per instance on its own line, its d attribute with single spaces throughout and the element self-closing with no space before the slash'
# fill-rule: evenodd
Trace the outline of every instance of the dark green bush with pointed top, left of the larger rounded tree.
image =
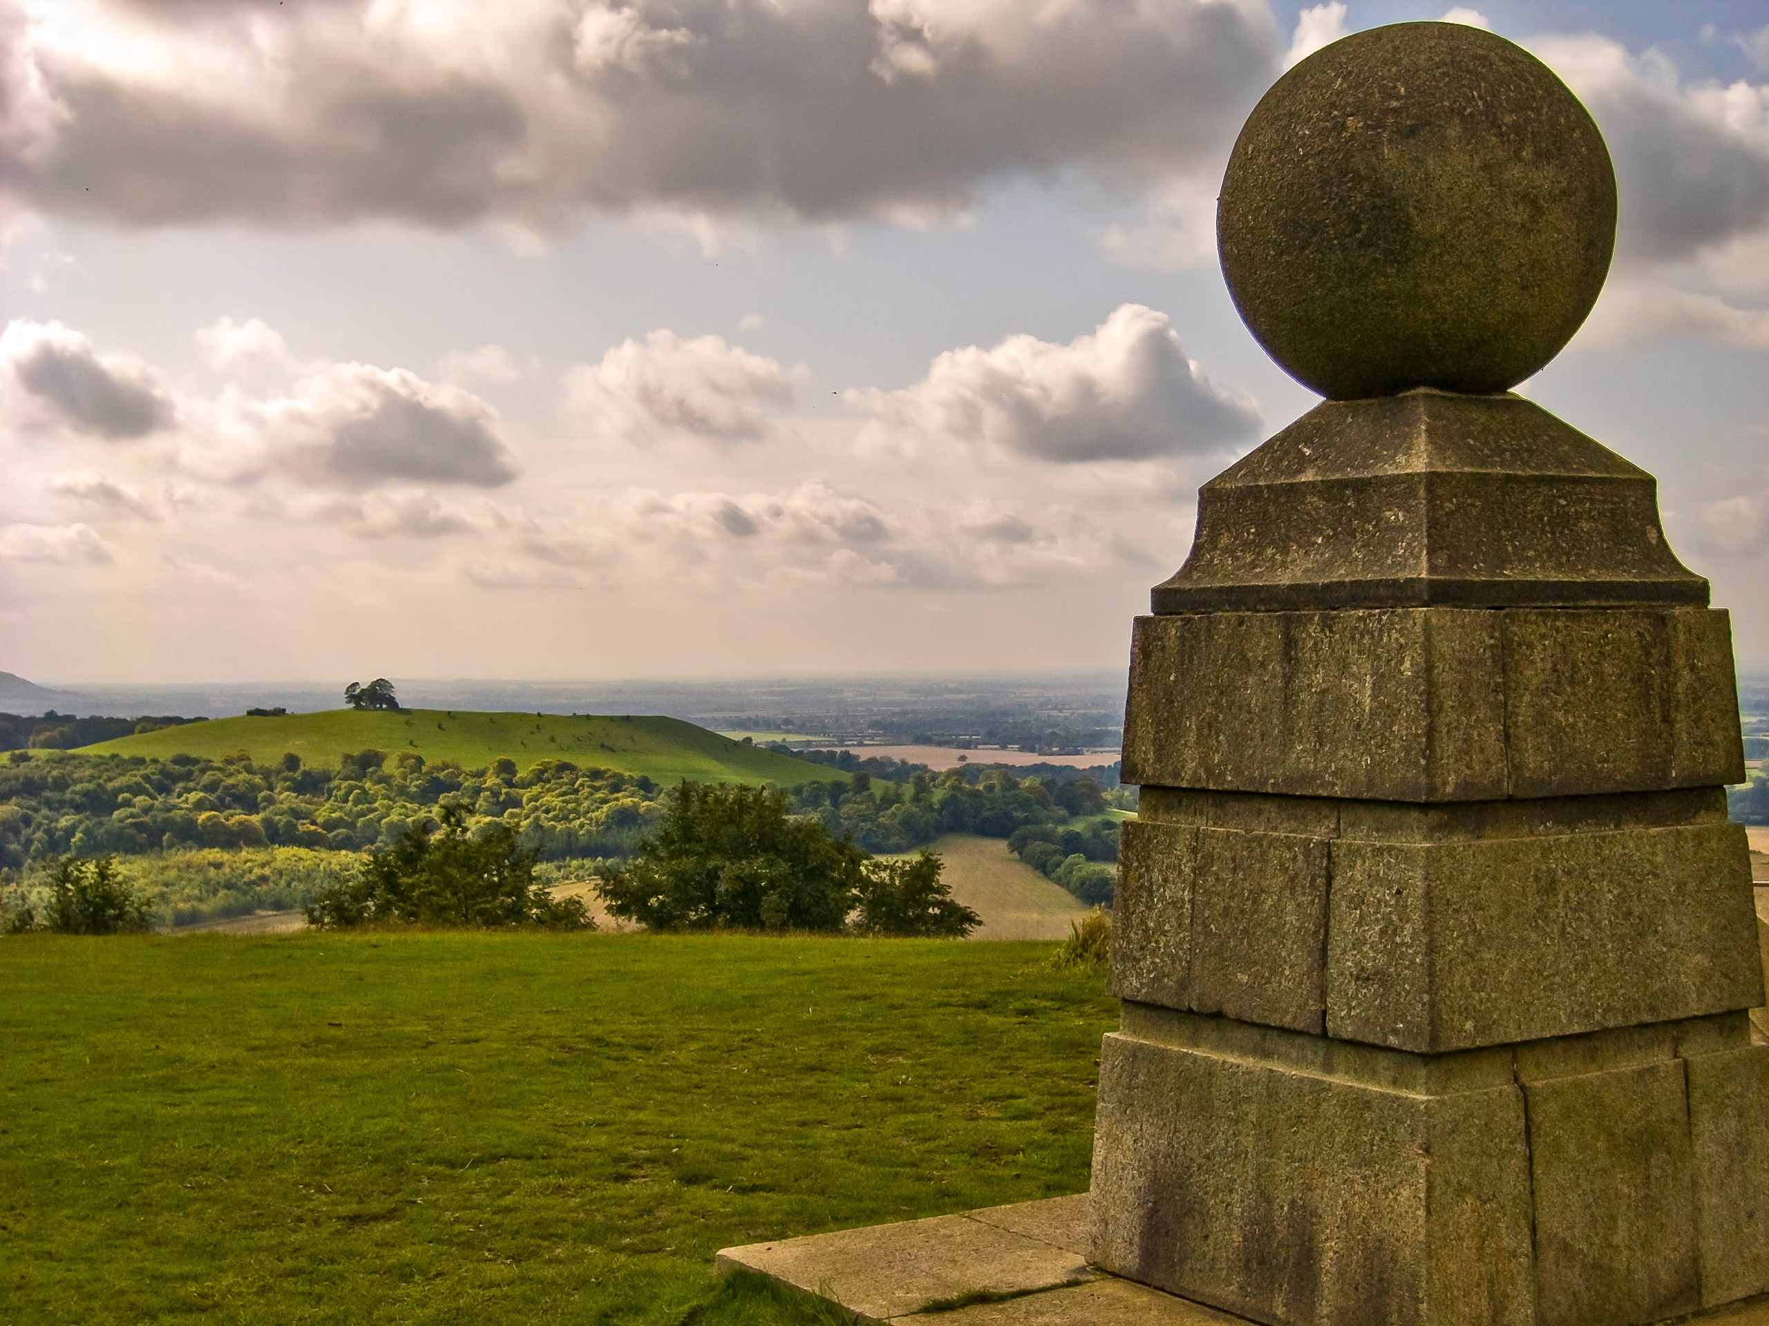
<svg viewBox="0 0 1769 1326">
<path fill-rule="evenodd" d="M 306 909 L 317 926 L 402 921 L 456 926 L 593 925 L 577 898 L 554 898 L 534 882 L 534 854 L 508 824 L 467 833 L 460 808 L 442 824 L 409 824 L 389 847 L 370 852 L 347 884 L 325 889 Z"/>
</svg>

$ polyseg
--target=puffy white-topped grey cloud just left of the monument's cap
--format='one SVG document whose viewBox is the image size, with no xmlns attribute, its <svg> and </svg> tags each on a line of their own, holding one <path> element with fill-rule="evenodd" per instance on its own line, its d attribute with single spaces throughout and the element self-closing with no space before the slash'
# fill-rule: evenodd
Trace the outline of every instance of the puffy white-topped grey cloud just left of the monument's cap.
<svg viewBox="0 0 1769 1326">
<path fill-rule="evenodd" d="M 1208 454 L 1258 435 L 1245 392 L 1212 387 L 1166 313 L 1123 304 L 1068 345 L 1010 336 L 939 355 L 902 391 L 858 391 L 865 442 L 987 446 L 1045 461 Z"/>
</svg>

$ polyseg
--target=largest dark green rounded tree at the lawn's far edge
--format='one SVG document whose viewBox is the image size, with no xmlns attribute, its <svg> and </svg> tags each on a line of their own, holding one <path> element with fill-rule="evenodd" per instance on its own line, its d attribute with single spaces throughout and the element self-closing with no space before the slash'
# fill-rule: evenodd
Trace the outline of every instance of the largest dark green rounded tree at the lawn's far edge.
<svg viewBox="0 0 1769 1326">
<path fill-rule="evenodd" d="M 867 854 L 764 787 L 681 783 L 632 861 L 596 891 L 653 930 L 840 930 Z"/>
</svg>

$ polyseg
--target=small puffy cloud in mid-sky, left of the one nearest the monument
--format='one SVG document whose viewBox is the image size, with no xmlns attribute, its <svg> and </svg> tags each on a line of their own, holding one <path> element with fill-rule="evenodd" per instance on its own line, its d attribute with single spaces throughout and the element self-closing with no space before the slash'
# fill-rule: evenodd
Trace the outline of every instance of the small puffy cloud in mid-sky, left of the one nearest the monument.
<svg viewBox="0 0 1769 1326">
<path fill-rule="evenodd" d="M 793 401 L 791 375 L 773 359 L 722 336 L 683 339 L 669 329 L 570 370 L 564 385 L 568 414 L 630 442 L 669 435 L 750 442 L 768 433 L 771 407 Z"/>
</svg>

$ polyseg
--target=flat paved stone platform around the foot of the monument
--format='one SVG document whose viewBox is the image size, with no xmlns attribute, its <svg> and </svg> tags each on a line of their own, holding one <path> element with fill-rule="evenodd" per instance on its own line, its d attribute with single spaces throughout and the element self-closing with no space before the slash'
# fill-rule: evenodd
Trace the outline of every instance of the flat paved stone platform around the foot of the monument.
<svg viewBox="0 0 1769 1326">
<path fill-rule="evenodd" d="M 745 1269 L 839 1303 L 856 1322 L 899 1326 L 1242 1326 L 1249 1317 L 1086 1264 L 1088 1193 L 932 1220 L 725 1248 Z M 1695 1317 L 1769 1326 L 1769 1296 Z"/>
</svg>

